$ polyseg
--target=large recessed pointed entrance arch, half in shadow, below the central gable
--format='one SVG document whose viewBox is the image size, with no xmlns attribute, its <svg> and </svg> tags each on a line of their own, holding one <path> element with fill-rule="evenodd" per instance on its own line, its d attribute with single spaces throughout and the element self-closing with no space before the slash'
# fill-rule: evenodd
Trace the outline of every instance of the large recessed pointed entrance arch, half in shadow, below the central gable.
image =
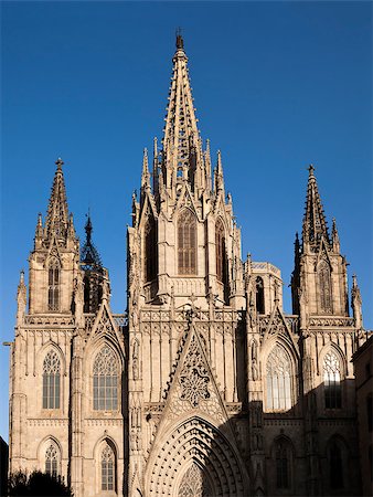
<svg viewBox="0 0 373 497">
<path fill-rule="evenodd" d="M 148 496 L 241 497 L 245 468 L 226 436 L 194 416 L 158 440 L 148 466 Z"/>
</svg>

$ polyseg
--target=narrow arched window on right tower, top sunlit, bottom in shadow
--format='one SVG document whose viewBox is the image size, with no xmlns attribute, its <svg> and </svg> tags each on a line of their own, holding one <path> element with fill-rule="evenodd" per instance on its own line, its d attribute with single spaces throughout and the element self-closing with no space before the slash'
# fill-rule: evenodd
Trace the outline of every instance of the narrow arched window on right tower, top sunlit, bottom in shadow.
<svg viewBox="0 0 373 497">
<path fill-rule="evenodd" d="M 323 388 L 326 409 L 340 409 L 342 405 L 341 364 L 333 351 L 323 358 Z"/>
</svg>

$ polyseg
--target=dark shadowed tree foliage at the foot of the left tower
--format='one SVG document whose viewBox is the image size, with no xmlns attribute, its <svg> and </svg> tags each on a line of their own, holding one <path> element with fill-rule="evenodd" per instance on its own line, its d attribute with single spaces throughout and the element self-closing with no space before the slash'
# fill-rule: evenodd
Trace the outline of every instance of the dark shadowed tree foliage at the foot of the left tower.
<svg viewBox="0 0 373 497">
<path fill-rule="evenodd" d="M 17 472 L 10 475 L 8 482 L 9 496 L 18 497 L 74 497 L 68 485 L 65 485 L 61 476 L 52 476 L 49 473 L 32 472 L 30 475 Z"/>
</svg>

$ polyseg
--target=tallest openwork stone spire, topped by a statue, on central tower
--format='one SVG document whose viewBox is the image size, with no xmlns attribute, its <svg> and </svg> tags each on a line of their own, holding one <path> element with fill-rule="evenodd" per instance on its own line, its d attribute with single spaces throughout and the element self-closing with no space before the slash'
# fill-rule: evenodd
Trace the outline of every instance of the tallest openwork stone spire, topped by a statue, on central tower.
<svg viewBox="0 0 373 497">
<path fill-rule="evenodd" d="M 177 182 L 189 181 L 193 189 L 205 187 L 204 161 L 192 88 L 188 74 L 188 57 L 181 34 L 177 35 L 177 51 L 162 140 L 162 179 L 170 197 Z"/>
</svg>

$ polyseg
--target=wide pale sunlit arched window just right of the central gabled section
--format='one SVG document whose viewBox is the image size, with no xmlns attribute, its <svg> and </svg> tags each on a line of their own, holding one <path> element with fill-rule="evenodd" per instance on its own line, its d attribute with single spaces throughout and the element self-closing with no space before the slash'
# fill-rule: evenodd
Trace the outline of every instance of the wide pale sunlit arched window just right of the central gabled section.
<svg viewBox="0 0 373 497">
<path fill-rule="evenodd" d="M 283 347 L 276 346 L 267 359 L 267 410 L 291 408 L 291 364 Z"/>
</svg>

